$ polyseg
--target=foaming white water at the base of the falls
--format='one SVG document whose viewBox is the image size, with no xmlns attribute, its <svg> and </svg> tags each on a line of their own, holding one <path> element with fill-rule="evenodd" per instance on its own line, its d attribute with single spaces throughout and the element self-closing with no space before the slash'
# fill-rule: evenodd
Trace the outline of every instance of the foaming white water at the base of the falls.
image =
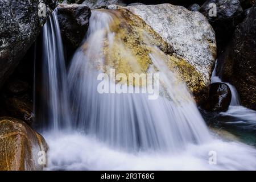
<svg viewBox="0 0 256 182">
<path fill-rule="evenodd" d="M 213 139 L 183 151 L 125 152 L 80 133 L 45 133 L 50 146 L 46 170 L 255 170 L 255 148 Z M 217 152 L 210 165 L 209 151 Z"/>
</svg>

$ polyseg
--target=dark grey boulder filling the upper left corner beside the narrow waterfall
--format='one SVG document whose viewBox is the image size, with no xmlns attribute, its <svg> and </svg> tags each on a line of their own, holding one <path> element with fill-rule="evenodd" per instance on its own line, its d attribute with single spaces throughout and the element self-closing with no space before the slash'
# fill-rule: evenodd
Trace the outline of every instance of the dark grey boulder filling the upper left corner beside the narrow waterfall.
<svg viewBox="0 0 256 182">
<path fill-rule="evenodd" d="M 46 5 L 46 16 L 39 13 L 40 2 Z M 0 86 L 35 41 L 54 7 L 51 0 L 0 1 Z"/>
</svg>

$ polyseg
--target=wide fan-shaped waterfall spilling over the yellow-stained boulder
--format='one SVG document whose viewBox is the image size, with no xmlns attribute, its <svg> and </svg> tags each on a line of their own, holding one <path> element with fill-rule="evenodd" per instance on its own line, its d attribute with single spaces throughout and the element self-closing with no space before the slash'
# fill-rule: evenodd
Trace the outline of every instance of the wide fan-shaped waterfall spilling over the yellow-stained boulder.
<svg viewBox="0 0 256 182">
<path fill-rule="evenodd" d="M 97 92 L 97 76 L 103 72 L 97 67 L 105 64 L 102 45 L 107 38 L 109 49 L 112 49 L 115 39 L 109 27 L 114 18 L 121 19 L 122 16 L 116 12 L 93 10 L 84 43 L 90 47 L 86 50 L 79 48 L 71 61 L 68 85 L 72 90 L 77 127 L 111 146 L 127 150 L 177 151 L 188 143 L 207 141 L 210 138 L 207 126 L 186 85 L 178 81 L 179 75 L 175 71 L 167 69 L 167 63 L 158 55 L 160 50 L 154 46 L 150 57 L 160 82 L 167 88 L 166 97 L 148 100 L 147 94 Z M 118 44 L 123 46 L 121 40 Z M 129 50 L 127 55 L 130 55 Z M 134 61 L 131 64 L 137 63 L 137 60 L 131 61 Z M 148 72 L 153 74 L 155 70 L 152 68 Z M 109 85 L 114 84 L 109 82 Z"/>
</svg>

